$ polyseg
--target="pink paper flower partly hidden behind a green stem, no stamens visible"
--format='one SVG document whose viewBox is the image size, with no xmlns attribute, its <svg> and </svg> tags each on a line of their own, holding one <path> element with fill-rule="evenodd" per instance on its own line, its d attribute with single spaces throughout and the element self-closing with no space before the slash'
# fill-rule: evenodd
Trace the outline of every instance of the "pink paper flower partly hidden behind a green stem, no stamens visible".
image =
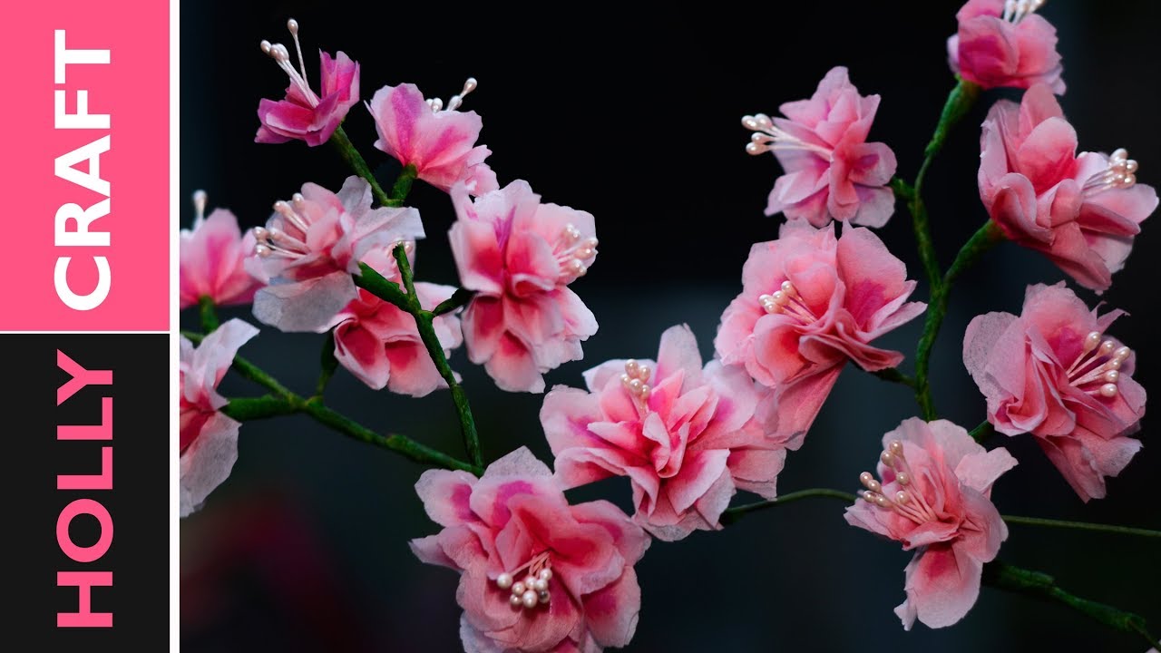
<svg viewBox="0 0 1161 653">
<path fill-rule="evenodd" d="M 389 279 L 398 282 L 398 279 Z M 419 303 L 427 310 L 455 292 L 452 286 L 416 282 Z M 334 328 L 334 357 L 360 381 L 378 390 L 424 396 L 447 382 L 427 354 L 416 318 L 396 306 L 359 289 L 359 296 L 327 324 Z M 460 346 L 460 318 L 447 314 L 433 321 L 444 354 Z"/>
</svg>

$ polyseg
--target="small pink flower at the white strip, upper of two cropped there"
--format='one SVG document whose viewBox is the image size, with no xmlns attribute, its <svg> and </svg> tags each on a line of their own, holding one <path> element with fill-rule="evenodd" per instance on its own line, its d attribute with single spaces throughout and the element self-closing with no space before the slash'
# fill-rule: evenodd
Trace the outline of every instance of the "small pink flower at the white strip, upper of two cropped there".
<svg viewBox="0 0 1161 653">
<path fill-rule="evenodd" d="M 243 236 L 238 218 L 226 209 L 215 209 L 205 217 L 205 193 L 194 193 L 193 229 L 179 236 L 180 308 L 197 306 L 201 297 L 217 306 L 250 303 L 260 284 L 246 271 L 245 259 L 253 253 L 254 236 Z"/>
</svg>

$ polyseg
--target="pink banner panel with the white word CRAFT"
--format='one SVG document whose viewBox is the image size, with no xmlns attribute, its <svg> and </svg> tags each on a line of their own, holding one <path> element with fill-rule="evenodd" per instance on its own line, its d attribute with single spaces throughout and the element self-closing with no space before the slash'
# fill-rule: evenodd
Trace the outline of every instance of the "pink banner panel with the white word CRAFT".
<svg viewBox="0 0 1161 653">
<path fill-rule="evenodd" d="M 168 330 L 168 3 L 6 9 L 0 331 Z"/>
</svg>

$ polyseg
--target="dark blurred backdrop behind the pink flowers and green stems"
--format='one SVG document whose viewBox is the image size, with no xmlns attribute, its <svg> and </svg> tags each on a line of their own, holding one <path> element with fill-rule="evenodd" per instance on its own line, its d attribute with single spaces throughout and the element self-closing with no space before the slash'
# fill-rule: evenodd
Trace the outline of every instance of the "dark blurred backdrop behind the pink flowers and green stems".
<svg viewBox="0 0 1161 653">
<path fill-rule="evenodd" d="M 773 157 L 744 153 L 743 114 L 774 114 L 779 103 L 809 96 L 831 66 L 846 65 L 861 93 L 882 95 L 871 137 L 887 142 L 899 173 L 913 178 L 953 85 L 944 42 L 956 29 L 959 2 L 702 5 L 692 12 L 672 5 L 652 12 L 580 7 L 460 12 L 442 3 L 186 2 L 181 195 L 204 188 L 211 206 L 229 207 L 253 225 L 304 181 L 338 188 L 349 174 L 329 146 L 253 143 L 259 99 L 281 98 L 287 81 L 258 42 L 289 44 L 289 16 L 302 26 L 316 88 L 319 48 L 360 62 L 365 100 L 385 84 L 412 81 L 446 101 L 474 76 L 479 89 L 466 108 L 484 117 L 482 142 L 495 152 L 489 163 L 500 182 L 527 179 L 545 201 L 597 216 L 599 261 L 574 288 L 601 329 L 585 343 L 585 360 L 548 375 L 549 386 L 579 386 L 580 372 L 603 360 L 655 356 L 661 332 L 680 322 L 712 353 L 717 317 L 741 288 L 750 245 L 776 237 L 781 222 L 762 214 L 779 168 Z M 1060 35 L 1069 88 L 1061 102 L 1081 149 L 1127 148 L 1141 162 L 1140 180 L 1156 185 L 1154 30 L 1161 10 L 1145 0 L 1115 7 L 1054 0 L 1041 10 Z M 926 196 L 944 265 L 986 218 L 975 187 L 975 125 L 1001 95 L 983 96 L 931 170 Z M 372 148 L 375 129 L 362 107 L 351 110 L 346 130 L 389 182 L 397 164 Z M 410 200 L 428 232 L 419 247 L 419 277 L 454 284 L 447 196 L 417 184 Z M 185 216 L 188 224 L 192 209 Z M 1101 297 L 1132 314 L 1112 333 L 1137 350 L 1135 376 L 1146 388 L 1161 378 L 1151 328 L 1159 317 L 1152 286 L 1161 256 L 1161 237 L 1151 229 L 1156 220 L 1146 223 L 1126 270 Z M 879 234 L 921 279 L 906 213 Z M 960 358 L 972 316 L 1018 313 L 1026 285 L 1060 279 L 1053 265 L 1011 244 L 962 278 L 933 357 L 944 416 L 967 428 L 983 416 Z M 926 299 L 922 282 L 915 299 Z M 228 316 L 253 322 L 247 309 Z M 192 314 L 182 320 L 196 325 Z M 880 344 L 910 358 L 920 328 L 916 321 Z M 317 374 L 320 339 L 264 330 L 241 353 L 305 393 Z M 489 459 L 528 445 L 550 460 L 536 417 L 541 396 L 496 389 L 462 351 L 453 366 L 463 374 Z M 260 393 L 236 378 L 223 388 L 235 396 Z M 461 451 L 446 393 L 423 400 L 373 393 L 340 371 L 326 399 L 383 432 Z M 881 435 L 915 414 L 906 388 L 848 368 L 806 445 L 789 455 L 779 487 L 856 489 L 858 473 L 875 461 Z M 1144 423 L 1142 452 L 1110 480 L 1109 498 L 1087 505 L 1029 438 L 996 436 L 989 446 L 1009 446 L 1021 465 L 998 482 L 995 502 L 1005 514 L 1161 528 L 1161 453 L 1151 423 Z M 418 466 L 302 417 L 246 424 L 241 433 L 233 475 L 181 525 L 183 650 L 459 647 L 455 574 L 420 565 L 406 546 L 435 532 L 412 489 Z M 616 479 L 572 494 L 607 496 L 627 508 L 629 491 Z M 1014 526 L 1001 559 L 1048 572 L 1081 596 L 1141 612 L 1161 631 L 1158 553 L 1148 540 Z M 753 516 L 721 533 L 655 543 L 637 566 L 643 601 L 629 650 L 1145 648 L 1061 605 L 988 588 L 957 626 L 931 631 L 917 624 L 906 633 L 892 608 L 903 600 L 909 558 L 897 544 L 848 526 L 842 505 L 825 500 Z"/>
</svg>

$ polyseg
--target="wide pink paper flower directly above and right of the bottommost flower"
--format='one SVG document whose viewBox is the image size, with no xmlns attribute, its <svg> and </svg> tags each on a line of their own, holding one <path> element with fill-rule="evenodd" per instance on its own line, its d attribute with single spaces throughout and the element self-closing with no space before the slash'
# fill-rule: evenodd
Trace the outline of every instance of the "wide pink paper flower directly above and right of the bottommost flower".
<svg viewBox="0 0 1161 653">
<path fill-rule="evenodd" d="M 755 417 L 745 369 L 702 369 L 688 326 L 662 335 L 656 363 L 611 360 L 584 379 L 587 390 L 557 386 L 540 411 L 564 487 L 628 476 L 634 519 L 668 541 L 721 529 L 736 489 L 776 496 L 786 443 Z"/>
</svg>

